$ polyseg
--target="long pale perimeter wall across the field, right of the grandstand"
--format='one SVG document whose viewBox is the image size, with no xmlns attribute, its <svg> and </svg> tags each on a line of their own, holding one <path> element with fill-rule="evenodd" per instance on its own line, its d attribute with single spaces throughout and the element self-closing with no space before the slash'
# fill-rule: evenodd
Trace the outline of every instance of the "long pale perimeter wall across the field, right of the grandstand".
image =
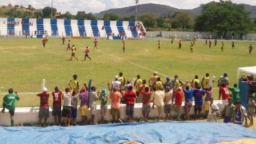
<svg viewBox="0 0 256 144">
<path fill-rule="evenodd" d="M 194 31 L 146 31 L 146 37 L 147 38 L 151 38 L 151 37 L 164 37 L 169 39 L 169 37 L 176 37 L 177 39 L 187 39 L 187 37 L 189 37 L 189 39 L 192 39 L 192 37 L 197 37 L 198 35 L 200 37 L 200 39 L 209 39 L 210 36 L 212 37 L 212 39 L 214 39 L 214 37 L 218 37 L 217 33 L 212 33 L 212 32 L 194 32 Z M 228 33 L 227 37 L 231 38 L 232 33 Z M 234 39 L 240 39 L 240 35 L 235 35 Z M 251 34 L 248 33 L 246 35 L 244 35 L 244 39 L 245 40 L 249 40 L 249 41 L 256 41 L 256 34 Z"/>
</svg>

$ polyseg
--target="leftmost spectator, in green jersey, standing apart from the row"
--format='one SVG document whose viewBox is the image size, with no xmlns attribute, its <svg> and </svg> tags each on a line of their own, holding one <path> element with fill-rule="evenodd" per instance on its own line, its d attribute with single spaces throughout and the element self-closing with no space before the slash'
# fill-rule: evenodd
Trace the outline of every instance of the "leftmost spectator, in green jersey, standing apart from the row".
<svg viewBox="0 0 256 144">
<path fill-rule="evenodd" d="M 15 102 L 16 100 L 19 100 L 18 92 L 15 91 L 15 94 L 13 94 L 13 89 L 9 88 L 8 90 L 9 94 L 5 95 L 3 98 L 3 109 L 2 113 L 5 113 L 5 108 L 9 110 L 10 116 L 11 116 L 11 126 L 14 124 L 14 111 L 15 111 Z"/>
</svg>

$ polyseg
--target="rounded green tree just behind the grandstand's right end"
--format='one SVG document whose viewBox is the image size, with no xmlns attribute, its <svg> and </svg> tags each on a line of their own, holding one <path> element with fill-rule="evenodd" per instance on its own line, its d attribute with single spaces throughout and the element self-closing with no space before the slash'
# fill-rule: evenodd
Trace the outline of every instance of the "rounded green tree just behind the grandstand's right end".
<svg viewBox="0 0 256 144">
<path fill-rule="evenodd" d="M 139 20 L 143 22 L 143 25 L 147 28 L 147 30 L 149 29 L 149 27 L 156 27 L 158 24 L 158 22 L 156 21 L 157 17 L 151 13 L 140 16 Z"/>
</svg>

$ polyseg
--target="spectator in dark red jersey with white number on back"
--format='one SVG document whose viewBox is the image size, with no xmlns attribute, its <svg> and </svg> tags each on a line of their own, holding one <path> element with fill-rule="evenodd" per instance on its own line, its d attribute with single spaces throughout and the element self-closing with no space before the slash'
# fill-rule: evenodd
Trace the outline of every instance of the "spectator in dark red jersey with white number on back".
<svg viewBox="0 0 256 144">
<path fill-rule="evenodd" d="M 53 118 L 54 118 L 55 125 L 60 126 L 62 92 L 58 89 L 58 86 L 56 86 L 54 90 L 55 91 L 52 93 L 53 94 Z"/>
</svg>

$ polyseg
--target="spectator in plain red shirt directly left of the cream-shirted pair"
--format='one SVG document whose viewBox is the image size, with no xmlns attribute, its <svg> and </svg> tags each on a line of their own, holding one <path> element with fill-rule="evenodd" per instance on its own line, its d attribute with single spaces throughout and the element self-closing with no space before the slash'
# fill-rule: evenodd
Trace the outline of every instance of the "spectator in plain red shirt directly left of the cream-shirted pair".
<svg viewBox="0 0 256 144">
<path fill-rule="evenodd" d="M 148 115 L 150 113 L 150 98 L 153 94 L 148 86 L 142 85 L 140 88 L 140 94 L 142 94 L 142 115 L 146 121 L 148 121 Z M 144 89 L 144 90 L 143 90 Z"/>
</svg>

